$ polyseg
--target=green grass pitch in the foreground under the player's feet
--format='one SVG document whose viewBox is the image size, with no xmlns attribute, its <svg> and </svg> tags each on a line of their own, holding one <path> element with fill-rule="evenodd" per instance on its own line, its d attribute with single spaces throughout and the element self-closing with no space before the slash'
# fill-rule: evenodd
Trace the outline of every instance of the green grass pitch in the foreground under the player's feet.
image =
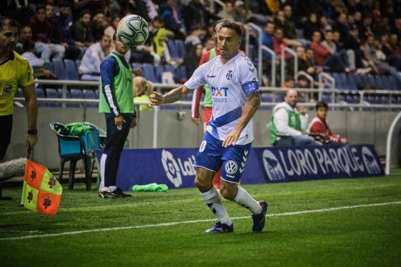
<svg viewBox="0 0 401 267">
<path fill-rule="evenodd" d="M 399 174 L 244 185 L 269 203 L 260 233 L 249 211 L 227 200 L 234 232 L 205 233 L 216 220 L 195 188 L 100 199 L 76 187 L 64 189 L 53 217 L 20 207 L 21 189 L 4 189 L 13 200 L 0 201 L 0 266 L 400 264 Z"/>
</svg>

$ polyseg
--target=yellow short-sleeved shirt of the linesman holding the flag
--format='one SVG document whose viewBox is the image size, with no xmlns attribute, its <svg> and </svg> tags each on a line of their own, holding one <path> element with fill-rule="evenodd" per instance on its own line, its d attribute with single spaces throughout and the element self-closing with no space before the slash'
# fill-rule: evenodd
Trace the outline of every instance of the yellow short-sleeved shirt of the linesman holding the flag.
<svg viewBox="0 0 401 267">
<path fill-rule="evenodd" d="M 18 88 L 33 83 L 29 61 L 14 51 L 10 53 L 8 60 L 0 64 L 0 116 L 12 114 L 13 99 Z"/>
</svg>

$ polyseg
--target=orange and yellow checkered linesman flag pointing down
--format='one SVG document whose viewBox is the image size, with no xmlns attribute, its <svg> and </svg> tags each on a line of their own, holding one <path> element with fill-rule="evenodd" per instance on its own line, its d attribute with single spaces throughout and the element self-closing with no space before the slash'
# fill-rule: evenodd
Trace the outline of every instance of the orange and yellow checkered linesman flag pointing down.
<svg viewBox="0 0 401 267">
<path fill-rule="evenodd" d="M 21 206 L 53 216 L 62 192 L 63 187 L 46 167 L 27 158 Z"/>
</svg>

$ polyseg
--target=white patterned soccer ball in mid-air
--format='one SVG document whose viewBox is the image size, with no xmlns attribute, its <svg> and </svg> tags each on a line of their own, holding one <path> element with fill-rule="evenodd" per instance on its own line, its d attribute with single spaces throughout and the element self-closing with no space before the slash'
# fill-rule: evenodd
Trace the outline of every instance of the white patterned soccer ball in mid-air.
<svg viewBox="0 0 401 267">
<path fill-rule="evenodd" d="M 145 43 L 149 36 L 149 27 L 142 17 L 128 15 L 118 23 L 117 35 L 124 45 L 136 47 Z"/>
</svg>

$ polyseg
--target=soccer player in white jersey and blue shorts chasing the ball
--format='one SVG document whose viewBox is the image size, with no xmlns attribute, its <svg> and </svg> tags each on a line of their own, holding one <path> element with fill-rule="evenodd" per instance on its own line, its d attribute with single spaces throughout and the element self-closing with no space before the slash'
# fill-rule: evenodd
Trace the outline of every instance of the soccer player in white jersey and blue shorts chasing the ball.
<svg viewBox="0 0 401 267">
<path fill-rule="evenodd" d="M 222 197 L 213 185 L 213 176 L 222 167 L 220 193 L 224 198 L 252 212 L 252 230 L 265 226 L 266 201 L 256 201 L 238 186 L 253 141 L 252 117 L 260 105 L 257 72 L 247 56 L 238 52 L 241 28 L 225 22 L 219 31 L 220 56 L 199 66 L 192 77 L 165 95 L 154 92 L 150 106 L 172 103 L 199 86 L 209 84 L 212 91 L 212 118 L 196 155 L 195 185 L 219 221 L 207 232 L 234 230 Z"/>
</svg>

